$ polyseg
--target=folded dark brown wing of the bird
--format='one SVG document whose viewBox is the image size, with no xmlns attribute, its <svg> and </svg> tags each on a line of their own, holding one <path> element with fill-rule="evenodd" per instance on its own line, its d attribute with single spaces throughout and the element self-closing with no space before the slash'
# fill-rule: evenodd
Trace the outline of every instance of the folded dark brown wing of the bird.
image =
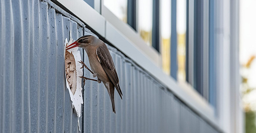
<svg viewBox="0 0 256 133">
<path fill-rule="evenodd" d="M 108 51 L 108 48 L 106 45 L 99 46 L 96 49 L 96 55 L 100 61 L 100 64 L 102 65 L 103 70 L 106 72 L 108 78 L 113 82 L 115 85 L 115 88 L 117 89 L 117 92 L 119 93 L 121 99 L 122 99 L 122 91 L 119 86 L 119 79 L 117 76 L 117 71 L 115 70 L 115 65 L 113 63 L 113 59 Z"/>
</svg>

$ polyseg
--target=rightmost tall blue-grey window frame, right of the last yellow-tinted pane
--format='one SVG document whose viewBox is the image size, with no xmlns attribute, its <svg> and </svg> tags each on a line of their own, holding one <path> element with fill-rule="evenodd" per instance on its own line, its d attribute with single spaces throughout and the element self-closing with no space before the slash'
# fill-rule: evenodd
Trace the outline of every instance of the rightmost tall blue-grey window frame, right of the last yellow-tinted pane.
<svg viewBox="0 0 256 133">
<path fill-rule="evenodd" d="M 186 81 L 209 101 L 209 0 L 187 2 Z"/>
</svg>

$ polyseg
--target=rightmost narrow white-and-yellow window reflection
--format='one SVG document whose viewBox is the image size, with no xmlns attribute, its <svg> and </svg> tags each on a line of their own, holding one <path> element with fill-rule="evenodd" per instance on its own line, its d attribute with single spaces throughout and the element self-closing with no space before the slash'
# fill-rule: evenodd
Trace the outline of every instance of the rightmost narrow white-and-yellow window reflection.
<svg viewBox="0 0 256 133">
<path fill-rule="evenodd" d="M 177 56 L 178 80 L 186 81 L 186 30 L 187 30 L 187 2 L 177 0 Z"/>
</svg>

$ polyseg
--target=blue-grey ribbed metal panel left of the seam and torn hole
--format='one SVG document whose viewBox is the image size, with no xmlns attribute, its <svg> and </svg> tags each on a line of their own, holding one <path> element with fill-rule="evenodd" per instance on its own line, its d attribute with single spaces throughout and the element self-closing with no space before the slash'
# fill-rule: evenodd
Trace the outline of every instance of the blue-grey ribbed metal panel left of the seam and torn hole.
<svg viewBox="0 0 256 133">
<path fill-rule="evenodd" d="M 77 133 L 63 43 L 83 27 L 39 0 L 1 0 L 0 7 L 0 132 Z"/>
</svg>

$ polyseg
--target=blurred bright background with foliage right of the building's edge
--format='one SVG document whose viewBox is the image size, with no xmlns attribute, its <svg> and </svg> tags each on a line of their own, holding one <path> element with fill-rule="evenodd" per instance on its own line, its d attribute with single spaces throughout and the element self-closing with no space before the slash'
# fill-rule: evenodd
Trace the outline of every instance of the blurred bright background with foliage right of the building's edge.
<svg viewBox="0 0 256 133">
<path fill-rule="evenodd" d="M 245 132 L 256 133 L 256 1 L 240 0 L 239 61 Z"/>
</svg>

